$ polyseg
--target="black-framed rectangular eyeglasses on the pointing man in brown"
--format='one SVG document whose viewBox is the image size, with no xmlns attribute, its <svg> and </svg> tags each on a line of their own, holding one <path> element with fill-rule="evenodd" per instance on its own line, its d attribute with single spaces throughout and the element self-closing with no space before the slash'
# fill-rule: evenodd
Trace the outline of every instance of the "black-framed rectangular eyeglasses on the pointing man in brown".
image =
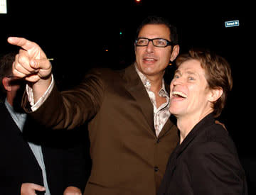
<svg viewBox="0 0 256 195">
<path fill-rule="evenodd" d="M 153 45 L 158 48 L 166 48 L 169 45 L 174 45 L 174 43 L 164 38 L 137 38 L 135 45 L 138 47 L 147 46 L 149 45 L 149 41 L 152 41 Z"/>
</svg>

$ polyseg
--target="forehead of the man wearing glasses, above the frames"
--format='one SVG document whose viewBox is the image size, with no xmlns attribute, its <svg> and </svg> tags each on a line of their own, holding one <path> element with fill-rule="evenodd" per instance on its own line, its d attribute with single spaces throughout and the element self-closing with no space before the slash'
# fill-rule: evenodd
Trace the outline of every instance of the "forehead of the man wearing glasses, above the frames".
<svg viewBox="0 0 256 195">
<path fill-rule="evenodd" d="M 144 38 L 170 38 L 170 30 L 164 24 L 146 24 L 139 31 L 139 37 Z"/>
</svg>

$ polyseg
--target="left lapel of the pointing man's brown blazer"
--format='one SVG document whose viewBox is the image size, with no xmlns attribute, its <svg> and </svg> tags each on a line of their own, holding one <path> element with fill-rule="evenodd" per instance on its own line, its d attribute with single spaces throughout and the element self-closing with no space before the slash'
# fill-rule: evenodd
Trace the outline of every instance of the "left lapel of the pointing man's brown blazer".
<svg viewBox="0 0 256 195">
<path fill-rule="evenodd" d="M 142 108 L 142 113 L 144 114 L 146 121 L 149 123 L 150 131 L 154 133 L 154 108 L 134 65 L 125 69 L 124 80 L 126 80 L 125 88 L 134 97 L 134 99 L 136 99 L 138 105 Z"/>
</svg>

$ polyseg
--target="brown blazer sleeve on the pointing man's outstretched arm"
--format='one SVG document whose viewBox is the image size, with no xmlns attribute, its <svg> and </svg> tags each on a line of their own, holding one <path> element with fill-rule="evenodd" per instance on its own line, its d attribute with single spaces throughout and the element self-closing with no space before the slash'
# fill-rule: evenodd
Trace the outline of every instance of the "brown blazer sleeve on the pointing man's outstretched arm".
<svg viewBox="0 0 256 195">
<path fill-rule="evenodd" d="M 86 74 L 78 87 L 68 91 L 60 92 L 55 85 L 46 101 L 34 112 L 30 110 L 26 94 L 22 106 L 46 128 L 76 128 L 100 109 L 105 91 L 102 74 L 101 69 L 94 69 Z"/>
</svg>

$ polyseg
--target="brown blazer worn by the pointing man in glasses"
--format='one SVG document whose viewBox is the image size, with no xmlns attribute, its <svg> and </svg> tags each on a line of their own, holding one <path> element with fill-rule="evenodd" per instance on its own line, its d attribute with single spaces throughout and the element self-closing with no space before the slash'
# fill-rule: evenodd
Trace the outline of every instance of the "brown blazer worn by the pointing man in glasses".
<svg viewBox="0 0 256 195">
<path fill-rule="evenodd" d="M 156 138 L 153 106 L 134 65 L 95 69 L 70 91 L 54 87 L 31 116 L 50 128 L 72 129 L 89 121 L 92 171 L 86 195 L 156 194 L 178 142 L 170 120 Z"/>
</svg>

